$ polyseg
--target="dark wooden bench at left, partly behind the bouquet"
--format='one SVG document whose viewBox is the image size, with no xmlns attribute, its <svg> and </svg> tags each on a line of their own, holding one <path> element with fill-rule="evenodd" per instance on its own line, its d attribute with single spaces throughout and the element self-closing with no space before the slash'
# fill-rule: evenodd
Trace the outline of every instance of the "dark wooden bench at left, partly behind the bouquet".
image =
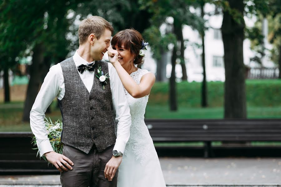
<svg viewBox="0 0 281 187">
<path fill-rule="evenodd" d="M 32 132 L 0 132 L 0 174 L 59 174 L 52 164 L 36 157 Z"/>
</svg>

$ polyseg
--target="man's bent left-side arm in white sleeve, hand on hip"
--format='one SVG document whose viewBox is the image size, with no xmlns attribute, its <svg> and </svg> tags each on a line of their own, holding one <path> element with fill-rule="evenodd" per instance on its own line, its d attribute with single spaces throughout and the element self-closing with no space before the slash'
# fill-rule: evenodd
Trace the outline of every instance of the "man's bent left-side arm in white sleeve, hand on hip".
<svg viewBox="0 0 281 187">
<path fill-rule="evenodd" d="M 45 154 L 47 160 L 59 171 L 72 170 L 71 165 L 74 164 L 66 156 L 54 152 L 48 138 L 44 118 L 45 112 L 54 98 L 62 99 L 64 92 L 62 68 L 60 64 L 57 64 L 50 68 L 30 111 L 30 127 L 36 137 L 40 156 Z"/>
</svg>

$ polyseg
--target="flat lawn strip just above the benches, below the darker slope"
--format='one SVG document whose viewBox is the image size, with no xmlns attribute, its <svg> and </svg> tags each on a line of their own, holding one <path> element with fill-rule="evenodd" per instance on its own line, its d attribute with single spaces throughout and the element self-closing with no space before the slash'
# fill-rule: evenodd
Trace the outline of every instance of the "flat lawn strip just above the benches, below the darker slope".
<svg viewBox="0 0 281 187">
<path fill-rule="evenodd" d="M 60 110 L 56 102 L 51 105 L 52 113 L 46 114 L 52 121 L 61 119 Z M 30 132 L 29 122 L 22 122 L 23 102 L 0 103 L 0 132 Z M 216 108 L 179 107 L 178 111 L 171 112 L 168 106 L 149 105 L 146 108 L 145 118 L 153 119 L 222 119 L 224 110 Z M 281 118 L 281 106 L 278 107 L 248 107 L 248 118 Z"/>
</svg>

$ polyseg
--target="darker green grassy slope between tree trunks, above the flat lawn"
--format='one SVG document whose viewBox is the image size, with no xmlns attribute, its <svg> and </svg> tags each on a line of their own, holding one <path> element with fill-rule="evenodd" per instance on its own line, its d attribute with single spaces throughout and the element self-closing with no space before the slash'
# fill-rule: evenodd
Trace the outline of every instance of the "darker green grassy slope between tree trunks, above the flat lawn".
<svg viewBox="0 0 281 187">
<path fill-rule="evenodd" d="M 281 80 L 246 80 L 248 106 L 281 106 Z M 176 84 L 177 103 L 183 107 L 200 107 L 201 83 L 181 82 Z M 223 107 L 224 82 L 207 83 L 207 100 L 210 107 Z M 151 105 L 167 105 L 169 83 L 156 82 L 150 92 Z"/>
</svg>

